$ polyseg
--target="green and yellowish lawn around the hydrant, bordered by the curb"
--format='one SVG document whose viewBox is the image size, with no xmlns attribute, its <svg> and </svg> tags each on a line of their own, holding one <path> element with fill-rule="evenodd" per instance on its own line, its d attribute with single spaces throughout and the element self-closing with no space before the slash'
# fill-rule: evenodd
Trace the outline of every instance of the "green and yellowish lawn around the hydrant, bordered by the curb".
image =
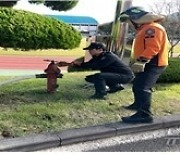
<svg viewBox="0 0 180 154">
<path fill-rule="evenodd" d="M 14 136 L 57 131 L 120 121 L 132 112 L 122 108 L 132 102 L 131 85 L 108 95 L 107 100 L 88 99 L 94 88 L 84 77 L 92 72 L 67 73 L 59 79 L 59 91 L 46 93 L 45 79 L 29 79 L 0 87 L 0 132 Z M 7 80 L 0 77 L 0 81 Z M 158 84 L 153 97 L 155 116 L 180 113 L 180 85 Z"/>
</svg>

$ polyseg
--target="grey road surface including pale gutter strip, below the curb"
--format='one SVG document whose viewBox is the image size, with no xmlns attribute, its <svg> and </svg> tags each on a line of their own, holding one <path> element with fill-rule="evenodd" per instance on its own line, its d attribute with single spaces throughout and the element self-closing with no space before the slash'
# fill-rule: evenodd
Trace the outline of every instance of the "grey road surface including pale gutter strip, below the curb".
<svg viewBox="0 0 180 154">
<path fill-rule="evenodd" d="M 117 136 L 41 152 L 180 152 L 180 128 Z"/>
</svg>

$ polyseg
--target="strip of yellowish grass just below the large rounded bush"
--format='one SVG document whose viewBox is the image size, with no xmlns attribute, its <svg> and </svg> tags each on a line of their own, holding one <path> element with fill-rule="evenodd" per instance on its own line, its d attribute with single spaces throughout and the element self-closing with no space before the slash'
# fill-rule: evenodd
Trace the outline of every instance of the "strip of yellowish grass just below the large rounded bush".
<svg viewBox="0 0 180 154">
<path fill-rule="evenodd" d="M 62 49 L 44 49 L 21 51 L 12 48 L 0 48 L 0 55 L 18 55 L 18 56 L 84 56 L 83 48 L 86 47 L 86 39 L 82 39 L 78 48 L 71 50 Z"/>
</svg>

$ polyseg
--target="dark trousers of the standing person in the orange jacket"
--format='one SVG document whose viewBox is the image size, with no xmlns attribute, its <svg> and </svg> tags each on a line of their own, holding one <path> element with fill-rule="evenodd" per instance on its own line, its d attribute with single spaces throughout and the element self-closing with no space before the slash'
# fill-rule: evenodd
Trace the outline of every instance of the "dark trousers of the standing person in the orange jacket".
<svg viewBox="0 0 180 154">
<path fill-rule="evenodd" d="M 134 103 L 139 111 L 150 112 L 152 88 L 166 67 L 146 65 L 144 72 L 137 73 L 133 81 Z"/>
</svg>

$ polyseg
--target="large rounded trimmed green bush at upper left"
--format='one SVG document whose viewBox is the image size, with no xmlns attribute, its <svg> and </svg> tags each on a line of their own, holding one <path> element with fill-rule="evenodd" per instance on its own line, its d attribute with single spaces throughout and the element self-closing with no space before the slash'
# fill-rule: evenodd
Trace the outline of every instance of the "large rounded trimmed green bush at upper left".
<svg viewBox="0 0 180 154">
<path fill-rule="evenodd" d="M 29 49 L 72 49 L 81 34 L 51 17 L 10 8 L 0 9 L 0 46 Z"/>
</svg>

